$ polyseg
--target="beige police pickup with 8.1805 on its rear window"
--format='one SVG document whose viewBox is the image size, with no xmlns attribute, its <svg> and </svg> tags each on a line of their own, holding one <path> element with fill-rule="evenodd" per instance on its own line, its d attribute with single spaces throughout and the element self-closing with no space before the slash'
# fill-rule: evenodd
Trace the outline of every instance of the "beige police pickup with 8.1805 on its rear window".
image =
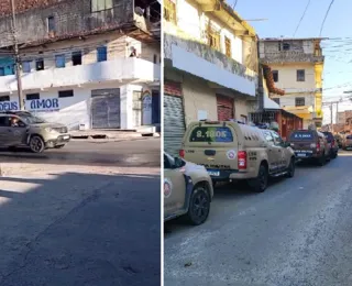
<svg viewBox="0 0 352 286">
<path fill-rule="evenodd" d="M 232 121 L 190 123 L 180 156 L 204 165 L 213 183 L 246 180 L 257 193 L 270 176 L 295 175 L 295 153 L 276 132 Z"/>
</svg>

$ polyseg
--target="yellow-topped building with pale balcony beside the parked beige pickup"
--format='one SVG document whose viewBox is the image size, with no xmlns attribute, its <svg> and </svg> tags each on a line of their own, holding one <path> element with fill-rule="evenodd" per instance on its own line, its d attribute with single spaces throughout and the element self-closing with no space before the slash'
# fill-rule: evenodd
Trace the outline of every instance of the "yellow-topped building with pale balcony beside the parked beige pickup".
<svg viewBox="0 0 352 286">
<path fill-rule="evenodd" d="M 256 96 L 255 31 L 224 1 L 164 0 L 164 139 L 177 153 L 195 120 L 248 120 Z"/>
</svg>

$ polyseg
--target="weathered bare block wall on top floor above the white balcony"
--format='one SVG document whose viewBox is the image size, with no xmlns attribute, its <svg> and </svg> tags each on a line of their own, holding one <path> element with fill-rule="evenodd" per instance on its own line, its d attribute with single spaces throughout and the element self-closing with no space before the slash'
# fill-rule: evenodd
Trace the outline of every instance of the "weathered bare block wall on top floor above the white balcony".
<svg viewBox="0 0 352 286">
<path fill-rule="evenodd" d="M 0 31 L 11 31 L 9 2 L 1 1 Z M 19 0 L 16 10 L 20 43 L 48 40 L 51 37 L 47 29 L 48 16 L 54 16 L 54 36 L 59 38 L 133 23 L 133 1 L 130 0 L 113 0 L 112 9 L 99 12 L 91 11 L 91 0 Z M 11 44 L 10 36 L 0 38 L 0 47 Z"/>
</svg>

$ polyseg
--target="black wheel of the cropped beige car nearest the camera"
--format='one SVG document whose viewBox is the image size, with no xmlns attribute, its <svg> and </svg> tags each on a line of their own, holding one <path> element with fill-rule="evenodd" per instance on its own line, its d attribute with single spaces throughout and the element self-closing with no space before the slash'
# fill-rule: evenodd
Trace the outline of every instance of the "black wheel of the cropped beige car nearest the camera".
<svg viewBox="0 0 352 286">
<path fill-rule="evenodd" d="M 198 185 L 190 195 L 187 212 L 188 221 L 194 226 L 204 223 L 210 211 L 210 197 L 205 186 Z"/>
</svg>

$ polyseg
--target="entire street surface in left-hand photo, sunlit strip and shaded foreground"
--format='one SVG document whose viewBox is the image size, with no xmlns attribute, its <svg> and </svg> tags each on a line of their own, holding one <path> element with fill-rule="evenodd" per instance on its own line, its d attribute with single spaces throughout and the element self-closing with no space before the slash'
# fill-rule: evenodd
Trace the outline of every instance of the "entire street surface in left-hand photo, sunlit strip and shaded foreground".
<svg viewBox="0 0 352 286">
<path fill-rule="evenodd" d="M 45 166 L 0 177 L 1 286 L 160 285 L 160 140 L 0 158 Z"/>
</svg>

